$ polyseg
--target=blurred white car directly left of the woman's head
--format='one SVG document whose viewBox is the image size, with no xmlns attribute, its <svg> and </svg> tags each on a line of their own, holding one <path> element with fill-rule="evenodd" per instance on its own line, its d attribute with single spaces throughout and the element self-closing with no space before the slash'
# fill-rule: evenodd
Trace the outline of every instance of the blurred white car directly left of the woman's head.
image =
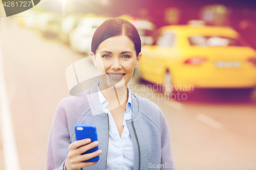
<svg viewBox="0 0 256 170">
<path fill-rule="evenodd" d="M 69 34 L 70 45 L 73 50 L 90 55 L 93 34 L 106 19 L 108 18 L 82 17 L 77 27 Z"/>
</svg>

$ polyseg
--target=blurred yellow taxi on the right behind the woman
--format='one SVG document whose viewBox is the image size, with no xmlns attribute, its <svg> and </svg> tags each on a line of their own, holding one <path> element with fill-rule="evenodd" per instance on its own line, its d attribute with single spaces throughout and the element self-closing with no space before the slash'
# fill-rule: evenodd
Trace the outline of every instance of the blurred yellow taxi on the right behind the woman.
<svg viewBox="0 0 256 170">
<path fill-rule="evenodd" d="M 153 36 L 142 46 L 139 76 L 166 93 L 256 87 L 256 51 L 230 27 L 173 25 Z"/>
</svg>

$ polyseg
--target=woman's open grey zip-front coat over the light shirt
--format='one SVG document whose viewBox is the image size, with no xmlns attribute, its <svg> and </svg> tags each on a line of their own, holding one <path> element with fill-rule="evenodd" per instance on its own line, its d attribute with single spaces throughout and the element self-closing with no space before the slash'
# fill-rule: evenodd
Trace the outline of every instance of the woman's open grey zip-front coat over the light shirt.
<svg viewBox="0 0 256 170">
<path fill-rule="evenodd" d="M 97 94 L 97 83 L 85 92 L 86 96 L 63 99 L 55 112 L 47 148 L 47 170 L 63 169 L 68 147 L 75 138 L 76 124 L 94 124 L 97 129 L 99 163 L 83 170 L 106 169 L 109 140 L 109 115 L 104 113 Z M 95 95 L 96 94 L 96 95 Z M 175 169 L 170 149 L 170 134 L 161 109 L 150 100 L 132 93 L 133 113 L 126 119 L 133 146 L 134 170 Z"/>
</svg>

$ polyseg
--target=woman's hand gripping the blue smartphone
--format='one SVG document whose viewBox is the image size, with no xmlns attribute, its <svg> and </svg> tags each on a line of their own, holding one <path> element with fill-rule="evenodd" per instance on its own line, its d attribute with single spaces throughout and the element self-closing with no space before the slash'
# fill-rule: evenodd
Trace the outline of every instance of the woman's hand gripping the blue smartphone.
<svg viewBox="0 0 256 170">
<path fill-rule="evenodd" d="M 82 153 L 92 148 L 95 148 L 99 144 L 98 141 L 94 141 L 91 143 L 90 142 L 91 142 L 91 139 L 86 138 L 86 139 L 74 141 L 69 145 L 69 153 L 66 161 L 67 170 L 77 170 L 82 167 L 95 165 L 96 163 L 99 162 L 99 161 L 98 162 L 82 162 L 102 154 L 102 151 L 98 150 L 89 154 L 81 155 Z"/>
</svg>

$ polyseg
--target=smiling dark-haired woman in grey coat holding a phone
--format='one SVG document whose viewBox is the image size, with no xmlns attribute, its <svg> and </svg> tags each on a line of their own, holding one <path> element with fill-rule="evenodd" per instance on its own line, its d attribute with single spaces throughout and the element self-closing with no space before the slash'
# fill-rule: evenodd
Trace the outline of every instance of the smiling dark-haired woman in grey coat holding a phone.
<svg viewBox="0 0 256 170">
<path fill-rule="evenodd" d="M 91 57 L 101 80 L 86 96 L 60 102 L 49 136 L 47 169 L 129 170 L 148 169 L 150 164 L 175 169 L 163 112 L 127 86 L 141 56 L 140 37 L 131 22 L 111 18 L 96 30 Z M 94 124 L 98 141 L 76 141 L 76 124 Z M 98 151 L 81 155 L 97 145 Z M 99 162 L 82 162 L 98 155 Z"/>
</svg>

